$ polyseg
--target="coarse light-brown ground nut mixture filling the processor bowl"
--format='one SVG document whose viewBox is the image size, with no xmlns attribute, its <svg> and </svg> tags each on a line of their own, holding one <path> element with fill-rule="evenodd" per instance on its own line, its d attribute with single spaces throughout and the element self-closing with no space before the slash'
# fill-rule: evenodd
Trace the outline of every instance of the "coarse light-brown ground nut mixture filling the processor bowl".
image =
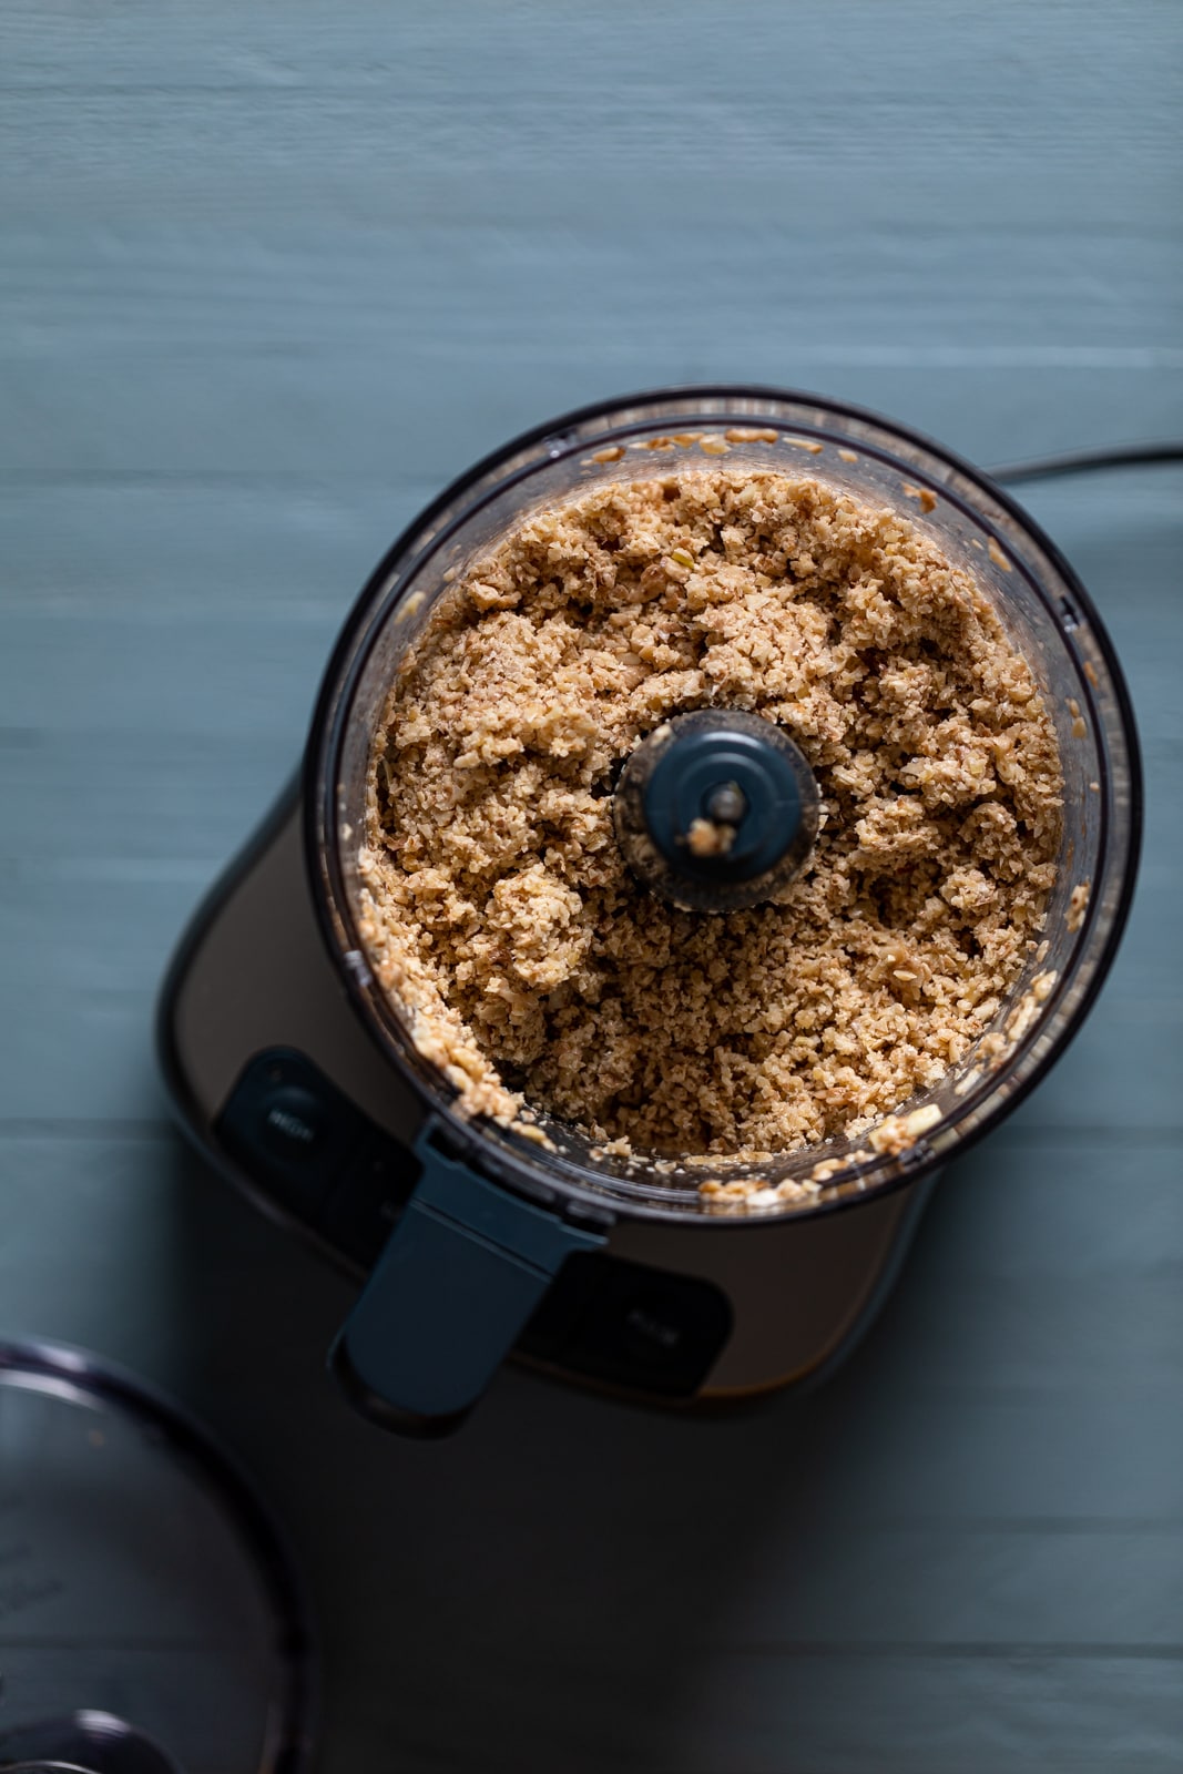
<svg viewBox="0 0 1183 1774">
<path fill-rule="evenodd" d="M 706 706 L 816 773 L 777 905 L 678 912 L 621 859 L 621 761 Z M 915 523 L 722 465 L 599 484 L 472 568 L 394 685 L 362 935 L 468 1112 L 766 1157 L 880 1121 L 995 1020 L 1061 791 L 1029 667 Z"/>
</svg>

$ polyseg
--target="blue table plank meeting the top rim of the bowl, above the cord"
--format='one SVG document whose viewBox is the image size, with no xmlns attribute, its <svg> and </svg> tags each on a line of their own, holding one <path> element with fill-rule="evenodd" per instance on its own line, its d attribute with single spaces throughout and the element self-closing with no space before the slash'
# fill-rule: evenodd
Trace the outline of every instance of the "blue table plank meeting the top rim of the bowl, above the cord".
<svg viewBox="0 0 1183 1774">
<path fill-rule="evenodd" d="M 573 310 L 560 303 L 559 312 Z M 87 484 L 161 472 L 232 484 L 266 465 L 271 475 L 314 483 L 332 468 L 388 486 L 429 474 L 442 486 L 488 449 L 569 408 L 639 387 L 713 380 L 825 387 L 972 459 L 999 461 L 1055 442 L 1171 435 L 1183 385 L 1178 367 L 1153 357 L 1142 367 L 1098 369 L 1022 358 L 942 367 L 926 364 L 924 353 L 908 362 L 910 351 L 896 365 L 835 362 L 825 339 L 812 348 L 800 342 L 780 303 L 756 316 L 741 341 L 733 341 L 729 314 L 704 318 L 711 342 L 699 346 L 670 342 L 654 316 L 633 326 L 617 314 L 617 346 L 596 355 L 584 349 L 571 319 L 555 328 L 536 316 L 536 332 L 529 349 L 495 344 L 479 362 L 450 342 L 433 358 L 394 337 L 396 328 L 376 353 L 227 358 L 177 349 L 149 376 L 138 358 L 112 353 L 85 364 L 9 362 L 0 381 L 11 413 L 0 474 L 18 486 L 55 474 Z M 890 342 L 887 349 L 896 351 Z M 1057 413 L 1055 429 L 1048 410 Z"/>
</svg>

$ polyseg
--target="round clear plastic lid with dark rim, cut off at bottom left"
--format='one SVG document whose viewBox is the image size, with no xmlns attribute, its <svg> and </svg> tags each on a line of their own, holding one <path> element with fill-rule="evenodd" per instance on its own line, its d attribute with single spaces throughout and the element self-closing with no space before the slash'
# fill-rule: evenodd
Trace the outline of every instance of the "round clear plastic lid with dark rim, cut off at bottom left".
<svg viewBox="0 0 1183 1774">
<path fill-rule="evenodd" d="M 0 1341 L 0 1770 L 307 1774 L 316 1687 L 302 1577 L 209 1433 Z"/>
</svg>

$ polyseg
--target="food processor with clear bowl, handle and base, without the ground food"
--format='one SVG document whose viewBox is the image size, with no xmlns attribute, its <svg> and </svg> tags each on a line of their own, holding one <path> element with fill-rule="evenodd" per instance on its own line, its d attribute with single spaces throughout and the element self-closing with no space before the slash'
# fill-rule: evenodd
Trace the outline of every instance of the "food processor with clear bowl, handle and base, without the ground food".
<svg viewBox="0 0 1183 1774">
<path fill-rule="evenodd" d="M 757 1167 L 768 1187 L 747 1199 L 701 1189 L 750 1174 L 738 1160 L 670 1166 L 614 1155 L 544 1114 L 534 1137 L 459 1114 L 358 928 L 371 743 L 438 600 L 527 513 L 720 459 L 823 481 L 928 532 L 1025 656 L 1064 772 L 1043 942 L 997 1015 L 991 1057 L 970 1052 L 905 1105 L 908 1139 L 786 1153 Z M 715 917 L 802 866 L 816 791 L 800 756 L 777 761 L 775 729 L 757 727 L 745 734 L 725 708 L 679 717 L 626 761 L 615 832 L 646 891 Z M 683 827 L 697 811 L 745 841 L 695 862 Z M 997 1126 L 1077 1032 L 1124 924 L 1139 827 L 1137 740 L 1109 637 L 1057 548 L 986 474 L 812 394 L 612 401 L 481 461 L 374 571 L 330 660 L 300 777 L 174 958 L 165 1075 L 209 1158 L 364 1283 L 332 1366 L 376 1421 L 450 1430 L 509 1354 L 651 1403 L 748 1396 L 818 1377 L 853 1346 L 938 1169 Z"/>
</svg>

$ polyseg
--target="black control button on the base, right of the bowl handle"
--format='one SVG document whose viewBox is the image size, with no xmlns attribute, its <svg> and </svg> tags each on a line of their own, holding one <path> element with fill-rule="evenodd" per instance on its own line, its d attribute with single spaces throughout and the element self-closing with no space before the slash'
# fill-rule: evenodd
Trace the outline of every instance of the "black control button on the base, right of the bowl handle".
<svg viewBox="0 0 1183 1774">
<path fill-rule="evenodd" d="M 690 1398 L 731 1325 L 731 1300 L 711 1281 L 580 1254 L 564 1263 L 521 1350 L 612 1385 Z"/>
</svg>

